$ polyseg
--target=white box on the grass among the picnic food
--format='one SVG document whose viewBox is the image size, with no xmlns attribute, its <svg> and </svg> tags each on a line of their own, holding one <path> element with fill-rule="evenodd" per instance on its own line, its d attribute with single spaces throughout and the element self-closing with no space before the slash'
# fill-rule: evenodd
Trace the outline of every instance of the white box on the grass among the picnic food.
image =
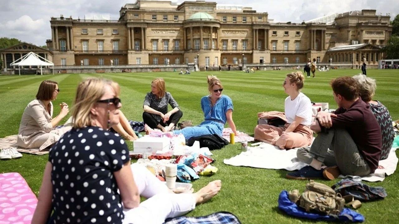
<svg viewBox="0 0 399 224">
<path fill-rule="evenodd" d="M 158 138 L 158 137 L 142 137 L 136 141 L 133 141 L 134 153 L 146 153 L 147 150 L 151 150 L 152 153 L 157 151 L 168 151 L 170 149 L 170 138 Z"/>
</svg>

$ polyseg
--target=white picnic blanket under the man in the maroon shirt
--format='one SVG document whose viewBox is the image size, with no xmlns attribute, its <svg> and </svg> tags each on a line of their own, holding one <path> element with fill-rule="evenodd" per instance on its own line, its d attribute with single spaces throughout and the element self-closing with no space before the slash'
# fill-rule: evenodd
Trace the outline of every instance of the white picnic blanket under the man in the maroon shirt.
<svg viewBox="0 0 399 224">
<path fill-rule="evenodd" d="M 248 147 L 249 150 L 241 152 L 239 155 L 225 159 L 223 162 L 233 166 L 246 166 L 264 169 L 286 169 L 293 171 L 307 166 L 301 163 L 296 157 L 297 149 L 281 150 L 278 147 L 267 143 L 255 143 L 256 147 Z M 380 160 L 379 166 L 383 169 L 377 169 L 374 173 L 361 177 L 364 181 L 376 182 L 383 181 L 385 175 L 389 176 L 396 170 L 398 158 L 395 153 L 396 148 L 392 148 L 387 159 Z M 340 178 L 350 177 L 340 175 Z"/>
</svg>

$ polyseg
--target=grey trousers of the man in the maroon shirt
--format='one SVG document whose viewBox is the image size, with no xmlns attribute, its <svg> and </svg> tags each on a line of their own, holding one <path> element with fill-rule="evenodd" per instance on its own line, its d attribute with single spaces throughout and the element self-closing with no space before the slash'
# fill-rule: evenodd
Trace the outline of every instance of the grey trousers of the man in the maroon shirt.
<svg viewBox="0 0 399 224">
<path fill-rule="evenodd" d="M 338 165 L 343 175 L 363 177 L 370 173 L 369 165 L 345 129 L 331 128 L 328 133 L 319 133 L 311 147 L 298 148 L 296 156 L 303 163 L 317 159 L 326 166 Z"/>
</svg>

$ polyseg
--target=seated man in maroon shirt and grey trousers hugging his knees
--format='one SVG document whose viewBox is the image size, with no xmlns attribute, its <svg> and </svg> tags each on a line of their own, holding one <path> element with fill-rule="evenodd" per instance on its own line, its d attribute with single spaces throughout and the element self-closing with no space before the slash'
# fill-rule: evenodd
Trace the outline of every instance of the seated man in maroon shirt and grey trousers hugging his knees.
<svg viewBox="0 0 399 224">
<path fill-rule="evenodd" d="M 369 106 L 359 97 L 352 77 L 331 81 L 334 113 L 318 112 L 310 126 L 318 136 L 312 146 L 297 151 L 299 161 L 308 163 L 288 179 L 322 178 L 333 180 L 343 175 L 367 176 L 374 173 L 381 156 L 381 129 Z"/>
</svg>

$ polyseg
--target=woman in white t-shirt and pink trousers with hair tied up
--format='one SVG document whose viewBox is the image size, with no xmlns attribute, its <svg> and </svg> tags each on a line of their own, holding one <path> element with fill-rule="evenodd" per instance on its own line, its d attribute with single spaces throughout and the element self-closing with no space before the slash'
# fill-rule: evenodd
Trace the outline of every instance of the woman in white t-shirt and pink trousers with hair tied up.
<svg viewBox="0 0 399 224">
<path fill-rule="evenodd" d="M 312 124 L 312 103 L 300 92 L 303 81 L 304 76 L 299 71 L 287 74 L 282 85 L 284 92 L 289 95 L 284 102 L 287 123 L 284 127 L 258 124 L 254 130 L 255 140 L 277 145 L 280 149 L 310 145 L 313 138 L 309 127 Z M 266 118 L 267 113 L 258 113 L 258 118 Z"/>
</svg>

